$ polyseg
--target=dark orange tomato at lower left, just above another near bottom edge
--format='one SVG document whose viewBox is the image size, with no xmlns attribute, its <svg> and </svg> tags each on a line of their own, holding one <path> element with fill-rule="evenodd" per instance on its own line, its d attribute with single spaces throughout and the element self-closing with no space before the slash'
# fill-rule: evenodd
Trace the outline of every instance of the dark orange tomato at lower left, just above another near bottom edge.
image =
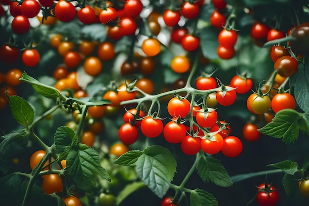
<svg viewBox="0 0 309 206">
<path fill-rule="evenodd" d="M 63 190 L 62 179 L 59 174 L 47 174 L 42 177 L 44 178 L 42 189 L 46 194 L 59 193 Z"/>
</svg>

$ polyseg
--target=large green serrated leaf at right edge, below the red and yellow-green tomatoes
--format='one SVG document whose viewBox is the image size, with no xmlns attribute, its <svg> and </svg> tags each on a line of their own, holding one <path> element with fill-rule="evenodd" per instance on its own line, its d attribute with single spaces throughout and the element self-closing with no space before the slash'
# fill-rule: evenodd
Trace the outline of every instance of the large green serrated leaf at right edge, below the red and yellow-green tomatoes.
<svg viewBox="0 0 309 206">
<path fill-rule="evenodd" d="M 304 118 L 305 114 L 298 113 L 292 109 L 279 111 L 272 122 L 258 129 L 263 134 L 275 138 L 283 138 L 284 143 L 292 143 L 298 138 L 299 129 L 307 131 L 308 123 Z"/>
</svg>

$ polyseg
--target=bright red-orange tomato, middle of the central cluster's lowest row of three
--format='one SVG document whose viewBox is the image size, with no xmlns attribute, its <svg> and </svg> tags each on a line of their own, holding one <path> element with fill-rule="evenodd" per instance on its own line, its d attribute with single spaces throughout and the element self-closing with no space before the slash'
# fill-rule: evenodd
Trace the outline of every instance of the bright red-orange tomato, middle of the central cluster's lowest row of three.
<svg viewBox="0 0 309 206">
<path fill-rule="evenodd" d="M 210 155 L 217 154 L 221 151 L 223 147 L 223 138 L 220 134 L 215 134 L 211 139 L 202 139 L 201 140 L 202 150 Z"/>
</svg>

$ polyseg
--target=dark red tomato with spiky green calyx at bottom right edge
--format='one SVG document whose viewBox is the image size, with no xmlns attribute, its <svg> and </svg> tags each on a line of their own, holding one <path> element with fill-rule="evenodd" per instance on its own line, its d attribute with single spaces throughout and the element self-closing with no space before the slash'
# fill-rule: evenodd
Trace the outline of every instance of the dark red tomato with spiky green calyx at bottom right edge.
<svg viewBox="0 0 309 206">
<path fill-rule="evenodd" d="M 259 206 L 276 206 L 279 200 L 278 191 L 273 186 L 270 186 L 272 192 L 263 192 L 261 189 L 265 188 L 265 183 L 258 186 L 258 194 L 256 196 Z"/>
</svg>

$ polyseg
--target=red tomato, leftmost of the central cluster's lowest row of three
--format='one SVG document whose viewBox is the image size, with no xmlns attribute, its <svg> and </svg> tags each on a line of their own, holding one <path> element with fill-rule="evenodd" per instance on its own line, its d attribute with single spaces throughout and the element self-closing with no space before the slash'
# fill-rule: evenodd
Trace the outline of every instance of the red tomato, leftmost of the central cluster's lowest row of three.
<svg viewBox="0 0 309 206">
<path fill-rule="evenodd" d="M 195 155 L 201 149 L 201 139 L 199 137 L 192 137 L 187 135 L 180 143 L 181 150 L 186 155 Z"/>
</svg>

